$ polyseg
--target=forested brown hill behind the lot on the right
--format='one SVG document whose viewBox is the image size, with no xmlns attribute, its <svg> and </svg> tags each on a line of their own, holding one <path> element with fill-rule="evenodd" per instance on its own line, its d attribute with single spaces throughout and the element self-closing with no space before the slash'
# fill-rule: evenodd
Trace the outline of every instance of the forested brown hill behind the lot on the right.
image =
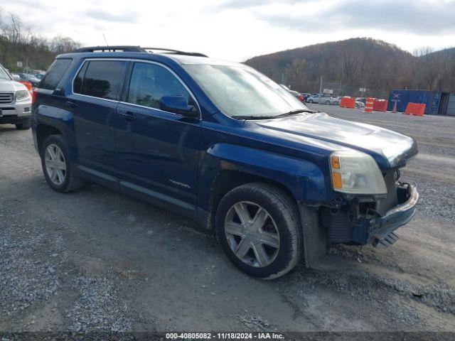
<svg viewBox="0 0 455 341">
<path fill-rule="evenodd" d="M 367 87 L 381 96 L 396 88 L 455 92 L 454 52 L 423 49 L 412 55 L 382 40 L 352 38 L 260 55 L 245 63 L 300 92 L 318 92 L 323 77 L 341 81 L 345 94 Z"/>
</svg>

